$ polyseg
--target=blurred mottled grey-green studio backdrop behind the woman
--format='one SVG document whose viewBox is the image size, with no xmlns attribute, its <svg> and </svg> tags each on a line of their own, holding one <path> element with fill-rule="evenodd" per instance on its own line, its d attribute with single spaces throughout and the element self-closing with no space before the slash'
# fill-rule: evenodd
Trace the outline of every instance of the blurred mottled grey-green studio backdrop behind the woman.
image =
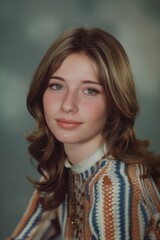
<svg viewBox="0 0 160 240">
<path fill-rule="evenodd" d="M 160 152 L 159 0 L 0 0 L 0 239 L 28 204 L 26 176 L 38 177 L 24 140 L 34 128 L 25 103 L 30 81 L 55 38 L 78 26 L 103 28 L 126 49 L 141 107 L 136 132 Z"/>
</svg>

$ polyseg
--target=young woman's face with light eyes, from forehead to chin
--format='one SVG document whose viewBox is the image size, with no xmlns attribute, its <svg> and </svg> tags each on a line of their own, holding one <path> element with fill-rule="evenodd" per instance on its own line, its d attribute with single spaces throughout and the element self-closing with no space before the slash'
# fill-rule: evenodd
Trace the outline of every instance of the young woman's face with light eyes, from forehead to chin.
<svg viewBox="0 0 160 240">
<path fill-rule="evenodd" d="M 96 63 L 84 53 L 69 55 L 49 79 L 43 107 L 48 127 L 64 145 L 98 147 L 107 106 Z"/>
</svg>

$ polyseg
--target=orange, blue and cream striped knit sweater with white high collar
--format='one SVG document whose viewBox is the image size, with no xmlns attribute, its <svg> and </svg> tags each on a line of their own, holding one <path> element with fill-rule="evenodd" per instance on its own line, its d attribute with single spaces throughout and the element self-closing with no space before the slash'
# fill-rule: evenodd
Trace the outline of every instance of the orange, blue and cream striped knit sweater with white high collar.
<svg viewBox="0 0 160 240">
<path fill-rule="evenodd" d="M 98 149 L 75 166 L 65 164 L 74 178 L 75 234 L 71 231 L 67 196 L 58 209 L 44 211 L 35 192 L 8 239 L 57 239 L 61 230 L 58 239 L 159 240 L 160 193 L 153 179 L 143 178 L 145 168 L 138 164 L 101 159 L 103 155 Z"/>
</svg>

